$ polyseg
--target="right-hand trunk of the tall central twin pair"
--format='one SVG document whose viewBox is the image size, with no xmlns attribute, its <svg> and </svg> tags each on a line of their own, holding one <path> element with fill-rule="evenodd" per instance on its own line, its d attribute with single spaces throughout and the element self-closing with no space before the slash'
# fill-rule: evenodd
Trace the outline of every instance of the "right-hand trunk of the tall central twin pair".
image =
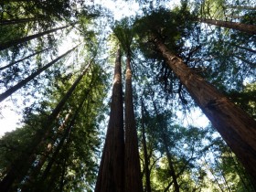
<svg viewBox="0 0 256 192">
<path fill-rule="evenodd" d="M 125 192 L 142 192 L 143 183 L 141 176 L 141 165 L 138 151 L 138 136 L 135 127 L 133 111 L 133 87 L 130 54 L 126 59 L 125 74 L 125 159 L 124 159 L 124 183 Z"/>
</svg>

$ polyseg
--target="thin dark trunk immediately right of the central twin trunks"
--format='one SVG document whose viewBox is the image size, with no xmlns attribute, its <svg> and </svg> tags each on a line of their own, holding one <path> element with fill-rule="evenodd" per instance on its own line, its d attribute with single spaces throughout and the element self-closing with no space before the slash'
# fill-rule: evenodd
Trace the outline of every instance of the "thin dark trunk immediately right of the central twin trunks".
<svg viewBox="0 0 256 192">
<path fill-rule="evenodd" d="M 145 130 L 144 130 L 144 101 L 142 99 L 142 128 L 143 128 L 143 146 L 144 146 L 144 173 L 145 173 L 145 192 L 151 192 L 149 159 L 147 155 Z"/>
</svg>

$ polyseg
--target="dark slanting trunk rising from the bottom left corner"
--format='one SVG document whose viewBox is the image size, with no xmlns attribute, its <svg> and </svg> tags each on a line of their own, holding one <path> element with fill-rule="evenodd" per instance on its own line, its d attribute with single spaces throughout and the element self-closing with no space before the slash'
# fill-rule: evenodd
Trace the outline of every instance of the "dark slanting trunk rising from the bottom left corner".
<svg viewBox="0 0 256 192">
<path fill-rule="evenodd" d="M 65 94 L 65 96 L 59 101 L 58 105 L 48 116 L 46 123 L 43 125 L 42 129 L 38 131 L 32 139 L 32 142 L 27 146 L 25 150 L 27 153 L 23 153 L 20 155 L 10 166 L 6 176 L 0 182 L 0 191 L 10 191 L 12 185 L 15 181 L 20 181 L 27 175 L 27 171 L 29 167 L 33 164 L 36 159 L 37 149 L 45 143 L 45 140 L 48 138 L 51 125 L 57 118 L 59 112 L 64 107 L 66 101 L 68 101 L 72 92 L 76 89 L 77 85 L 80 83 L 80 80 L 87 72 L 87 69 L 84 69 L 80 74 L 77 80 L 73 83 L 73 85 L 69 88 L 69 91 Z"/>
</svg>

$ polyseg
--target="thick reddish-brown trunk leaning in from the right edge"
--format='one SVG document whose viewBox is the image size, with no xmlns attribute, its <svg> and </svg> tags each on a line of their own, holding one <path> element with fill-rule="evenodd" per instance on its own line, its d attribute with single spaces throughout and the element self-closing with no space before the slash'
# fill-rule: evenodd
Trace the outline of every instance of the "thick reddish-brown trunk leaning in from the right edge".
<svg viewBox="0 0 256 192">
<path fill-rule="evenodd" d="M 169 68 L 176 73 L 191 97 L 238 156 L 256 185 L 256 122 L 214 86 L 189 69 L 161 40 L 154 38 L 155 45 L 163 54 Z"/>
</svg>

